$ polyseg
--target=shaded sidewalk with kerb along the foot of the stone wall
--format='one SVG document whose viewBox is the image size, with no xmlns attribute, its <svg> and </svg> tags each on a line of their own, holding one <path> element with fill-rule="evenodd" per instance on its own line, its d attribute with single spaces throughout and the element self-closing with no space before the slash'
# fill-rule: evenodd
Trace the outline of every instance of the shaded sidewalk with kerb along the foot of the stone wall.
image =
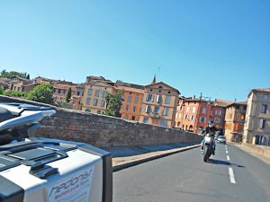
<svg viewBox="0 0 270 202">
<path fill-rule="evenodd" d="M 135 147 L 104 148 L 112 154 L 112 171 L 121 171 L 139 163 L 152 161 L 200 146 L 192 144 L 142 145 Z"/>
</svg>

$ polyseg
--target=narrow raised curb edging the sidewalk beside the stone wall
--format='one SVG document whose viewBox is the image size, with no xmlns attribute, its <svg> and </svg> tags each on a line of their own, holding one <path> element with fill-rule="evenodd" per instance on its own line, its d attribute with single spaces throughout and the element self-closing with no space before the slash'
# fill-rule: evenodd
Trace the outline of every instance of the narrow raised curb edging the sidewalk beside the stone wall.
<svg viewBox="0 0 270 202">
<path fill-rule="evenodd" d="M 146 157 L 144 159 L 134 160 L 133 162 L 126 162 L 126 163 L 122 163 L 120 165 L 115 165 L 115 166 L 112 167 L 112 172 L 121 171 L 123 169 L 130 168 L 132 166 L 138 165 L 138 164 L 143 163 L 143 162 L 150 162 L 152 160 L 156 160 L 156 159 L 159 159 L 159 158 L 162 158 L 162 157 L 166 157 L 166 156 L 171 155 L 171 154 L 181 153 L 181 152 L 184 152 L 184 151 L 187 151 L 187 150 L 199 147 L 199 146 L 201 146 L 201 144 L 192 145 L 192 146 L 186 146 L 186 147 L 180 148 L 177 151 L 167 152 L 165 154 L 157 154 L 157 155 Z"/>
</svg>

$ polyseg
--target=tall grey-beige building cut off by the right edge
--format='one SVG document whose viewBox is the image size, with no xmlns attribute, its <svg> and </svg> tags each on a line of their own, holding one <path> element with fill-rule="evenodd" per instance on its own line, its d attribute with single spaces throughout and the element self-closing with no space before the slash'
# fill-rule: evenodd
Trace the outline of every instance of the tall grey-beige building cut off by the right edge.
<svg viewBox="0 0 270 202">
<path fill-rule="evenodd" d="M 249 92 L 243 142 L 270 146 L 270 88 Z"/>
</svg>

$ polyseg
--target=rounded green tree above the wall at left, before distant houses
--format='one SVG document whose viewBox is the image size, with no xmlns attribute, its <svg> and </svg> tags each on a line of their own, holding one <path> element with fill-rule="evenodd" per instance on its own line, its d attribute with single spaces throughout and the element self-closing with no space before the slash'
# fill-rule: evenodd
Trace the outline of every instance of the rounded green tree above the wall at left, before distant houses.
<svg viewBox="0 0 270 202">
<path fill-rule="evenodd" d="M 53 102 L 53 87 L 49 83 L 41 83 L 34 87 L 31 92 L 29 92 L 27 99 L 30 101 L 39 101 L 47 104 Z"/>
</svg>

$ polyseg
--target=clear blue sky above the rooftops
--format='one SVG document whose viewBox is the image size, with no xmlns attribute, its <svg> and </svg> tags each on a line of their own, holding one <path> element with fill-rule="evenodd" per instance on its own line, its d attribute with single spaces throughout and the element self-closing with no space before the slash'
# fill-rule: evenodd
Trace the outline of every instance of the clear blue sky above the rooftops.
<svg viewBox="0 0 270 202">
<path fill-rule="evenodd" d="M 0 70 L 244 101 L 270 87 L 269 19 L 268 0 L 0 0 Z"/>
</svg>

